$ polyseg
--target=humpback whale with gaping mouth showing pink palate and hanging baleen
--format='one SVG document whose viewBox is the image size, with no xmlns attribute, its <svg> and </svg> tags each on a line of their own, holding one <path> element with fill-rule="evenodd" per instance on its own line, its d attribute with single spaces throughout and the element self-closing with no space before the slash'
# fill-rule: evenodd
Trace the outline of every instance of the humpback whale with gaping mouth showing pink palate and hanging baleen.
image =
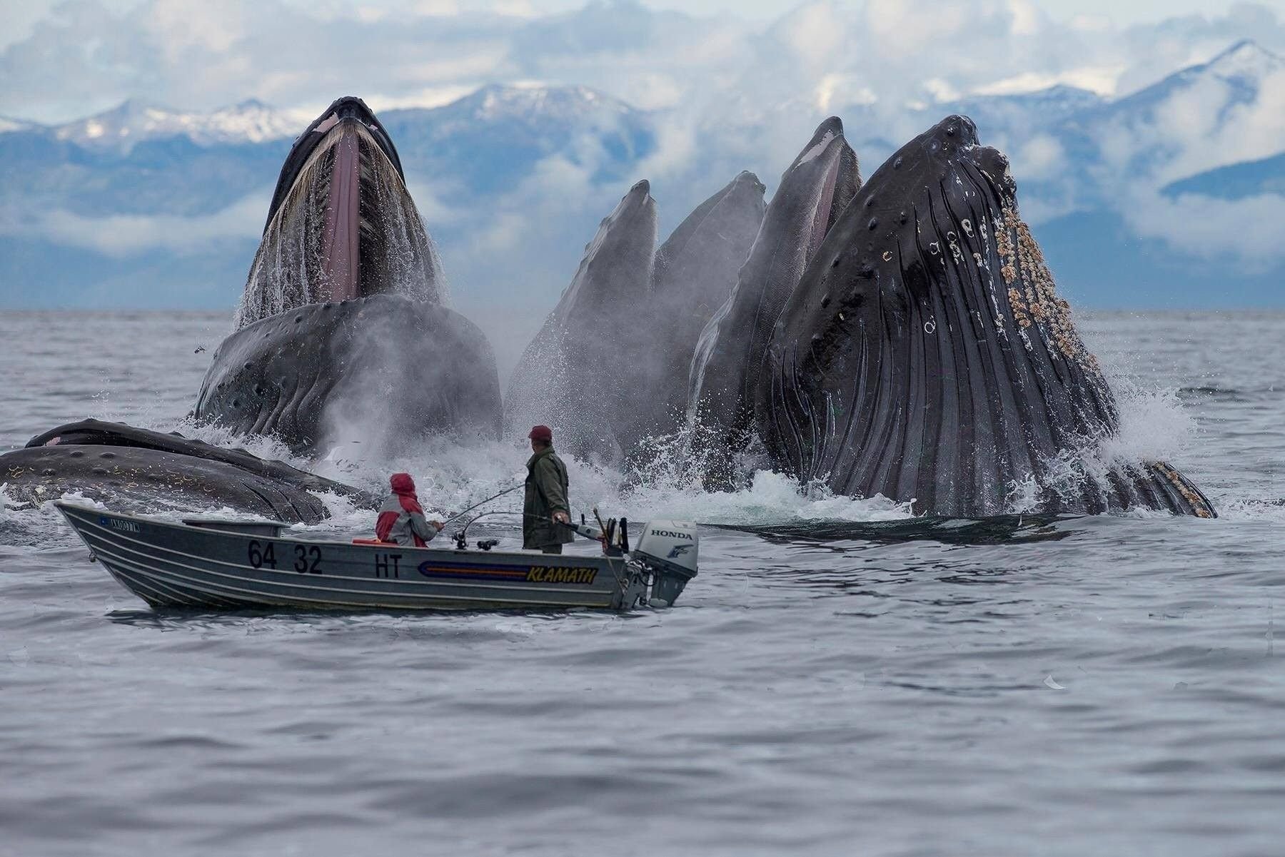
<svg viewBox="0 0 1285 857">
<path fill-rule="evenodd" d="M 215 352 L 194 415 L 299 454 L 497 437 L 491 346 L 445 299 L 392 140 L 365 103 L 342 98 L 285 159 L 238 330 Z"/>
</svg>

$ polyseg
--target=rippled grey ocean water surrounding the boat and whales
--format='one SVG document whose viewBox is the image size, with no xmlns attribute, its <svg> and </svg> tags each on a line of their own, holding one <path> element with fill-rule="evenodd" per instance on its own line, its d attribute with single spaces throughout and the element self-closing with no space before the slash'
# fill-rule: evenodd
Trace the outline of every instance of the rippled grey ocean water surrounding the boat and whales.
<svg viewBox="0 0 1285 857">
<path fill-rule="evenodd" d="M 0 450 L 181 427 L 229 321 L 0 315 Z M 1081 329 L 1121 448 L 1218 520 L 925 527 L 770 474 L 621 496 L 573 463 L 582 505 L 708 524 L 677 608 L 166 614 L 0 492 L 0 854 L 1285 853 L 1285 315 Z M 451 510 L 523 459 L 317 466 L 405 466 Z M 370 526 L 333 510 L 317 529 Z"/>
</svg>

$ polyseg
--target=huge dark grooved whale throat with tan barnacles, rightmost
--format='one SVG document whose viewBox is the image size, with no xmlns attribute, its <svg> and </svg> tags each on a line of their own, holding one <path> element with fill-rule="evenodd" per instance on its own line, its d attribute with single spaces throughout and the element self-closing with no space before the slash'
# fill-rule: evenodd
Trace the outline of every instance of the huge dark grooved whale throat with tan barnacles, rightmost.
<svg viewBox="0 0 1285 857">
<path fill-rule="evenodd" d="M 840 493 L 969 518 L 1018 493 L 1040 511 L 1214 514 L 1164 463 L 1095 460 L 1119 429 L 1115 398 L 1018 213 L 1007 158 L 961 116 L 906 144 L 838 217 L 750 394 L 774 464 Z"/>
</svg>

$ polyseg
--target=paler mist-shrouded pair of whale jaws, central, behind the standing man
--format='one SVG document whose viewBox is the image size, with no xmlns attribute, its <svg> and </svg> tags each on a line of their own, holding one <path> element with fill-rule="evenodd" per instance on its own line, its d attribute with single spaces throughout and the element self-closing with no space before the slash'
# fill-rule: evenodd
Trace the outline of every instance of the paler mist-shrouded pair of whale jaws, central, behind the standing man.
<svg viewBox="0 0 1285 857">
<path fill-rule="evenodd" d="M 612 463 L 676 430 L 696 339 L 731 292 L 762 218 L 763 185 L 741 172 L 657 249 L 650 185 L 634 185 L 523 352 L 506 423 L 551 425 L 560 448 Z"/>
</svg>

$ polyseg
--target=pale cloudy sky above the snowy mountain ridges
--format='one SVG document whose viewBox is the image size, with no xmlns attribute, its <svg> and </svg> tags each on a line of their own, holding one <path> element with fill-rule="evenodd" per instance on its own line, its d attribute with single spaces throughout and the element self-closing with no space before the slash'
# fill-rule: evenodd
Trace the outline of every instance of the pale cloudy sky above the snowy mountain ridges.
<svg viewBox="0 0 1285 857">
<path fill-rule="evenodd" d="M 834 93 L 906 103 L 1068 84 L 1110 96 L 1236 39 L 1285 51 L 1285 0 L 0 3 L 0 116 L 39 122 L 126 98 L 307 113 L 343 90 L 377 109 L 434 107 L 518 82 L 587 85 L 648 109 L 762 86 L 820 109 Z"/>
</svg>

